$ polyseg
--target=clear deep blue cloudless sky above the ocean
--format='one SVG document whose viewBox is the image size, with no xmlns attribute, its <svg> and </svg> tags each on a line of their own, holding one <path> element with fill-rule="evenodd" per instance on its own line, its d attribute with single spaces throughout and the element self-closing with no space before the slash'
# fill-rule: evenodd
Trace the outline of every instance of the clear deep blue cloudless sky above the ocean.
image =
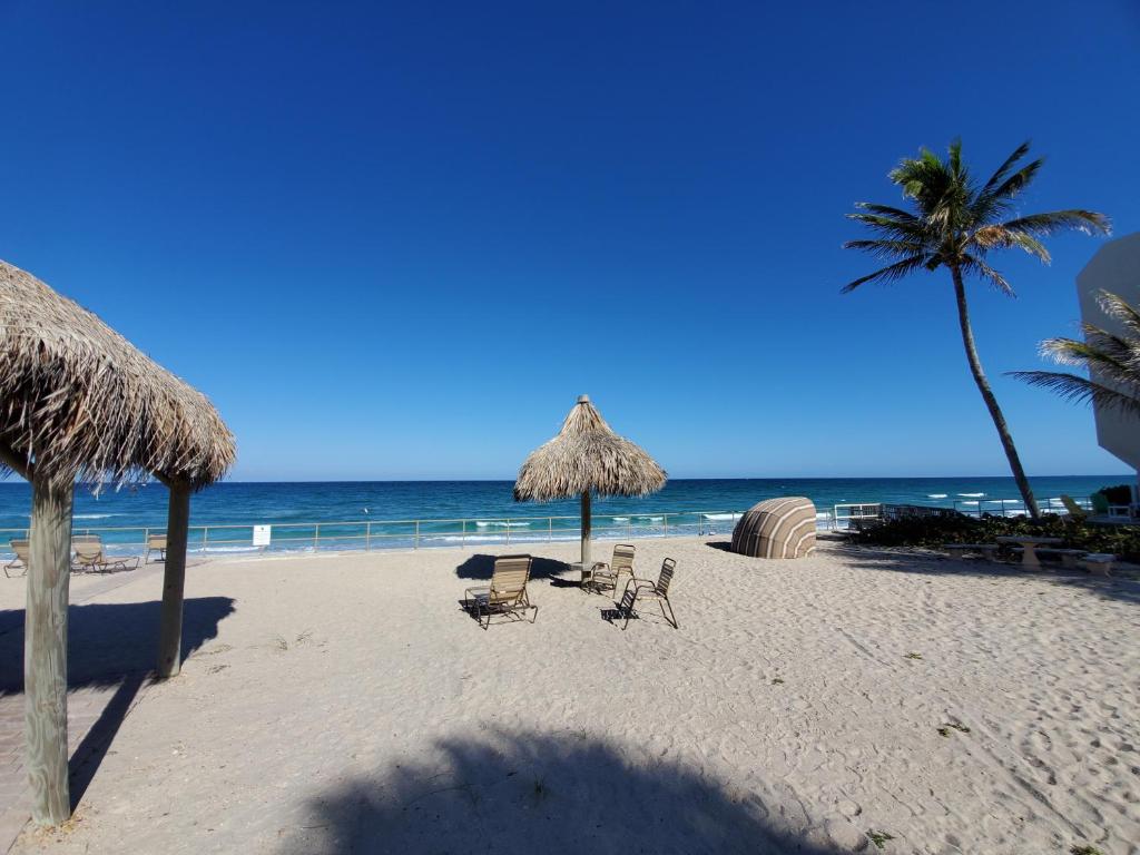
<svg viewBox="0 0 1140 855">
<path fill-rule="evenodd" d="M 767 8 L 766 8 L 767 7 Z M 513 477 L 580 392 L 675 477 L 1005 474 L 945 274 L 840 296 L 857 199 L 1032 138 L 1026 210 L 1140 229 L 1140 3 L 0 7 L 0 258 L 203 389 L 234 477 Z M 1031 474 L 1110 473 L 1023 388 L 1074 276 L 1000 259 Z"/>
</svg>

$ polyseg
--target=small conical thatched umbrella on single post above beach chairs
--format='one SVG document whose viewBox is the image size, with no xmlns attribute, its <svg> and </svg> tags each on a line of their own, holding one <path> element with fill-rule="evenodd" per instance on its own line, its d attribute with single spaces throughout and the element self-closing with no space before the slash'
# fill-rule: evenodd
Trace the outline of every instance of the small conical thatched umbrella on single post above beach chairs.
<svg viewBox="0 0 1140 855">
<path fill-rule="evenodd" d="M 589 396 L 567 415 L 559 435 L 539 446 L 522 464 L 514 482 L 515 502 L 549 502 L 581 496 L 581 563 L 589 568 L 589 497 L 648 496 L 668 475 L 640 447 L 619 437 Z"/>
</svg>

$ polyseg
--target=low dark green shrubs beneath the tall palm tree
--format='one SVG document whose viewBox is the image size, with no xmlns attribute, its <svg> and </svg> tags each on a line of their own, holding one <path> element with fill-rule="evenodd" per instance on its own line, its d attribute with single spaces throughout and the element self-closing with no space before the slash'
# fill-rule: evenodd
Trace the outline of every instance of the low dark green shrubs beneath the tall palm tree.
<svg viewBox="0 0 1140 855">
<path fill-rule="evenodd" d="M 988 544 L 997 537 L 1016 535 L 1059 537 L 1066 548 L 1110 553 L 1123 561 L 1140 562 L 1140 528 L 1075 522 L 1056 514 L 1045 514 L 1036 521 L 1025 516 L 990 514 L 983 514 L 980 519 L 964 514 L 904 516 L 852 532 L 852 539 L 873 546 L 938 549 L 943 544 Z"/>
</svg>

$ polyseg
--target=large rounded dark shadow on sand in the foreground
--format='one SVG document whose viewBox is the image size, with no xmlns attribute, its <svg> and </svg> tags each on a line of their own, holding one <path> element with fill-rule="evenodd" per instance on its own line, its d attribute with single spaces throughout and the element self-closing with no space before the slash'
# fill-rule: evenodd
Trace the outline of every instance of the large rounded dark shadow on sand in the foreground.
<svg viewBox="0 0 1140 855">
<path fill-rule="evenodd" d="M 483 730 L 323 792 L 283 855 L 750 853 L 832 855 L 754 792 L 668 760 L 626 762 L 585 733 Z"/>
</svg>

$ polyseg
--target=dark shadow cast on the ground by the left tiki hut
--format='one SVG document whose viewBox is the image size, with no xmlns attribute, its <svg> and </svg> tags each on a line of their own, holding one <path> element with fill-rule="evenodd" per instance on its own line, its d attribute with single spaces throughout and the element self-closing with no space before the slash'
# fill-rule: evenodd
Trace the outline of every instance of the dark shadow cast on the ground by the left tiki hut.
<svg viewBox="0 0 1140 855">
<path fill-rule="evenodd" d="M 234 612 L 225 596 L 187 600 L 182 611 L 182 661 L 218 635 Z M 153 676 L 158 651 L 160 603 L 92 603 L 67 611 L 67 689 L 112 689 L 71 756 L 72 807 L 95 777 L 136 697 Z M 0 612 L 0 698 L 24 691 L 23 610 Z"/>
</svg>

